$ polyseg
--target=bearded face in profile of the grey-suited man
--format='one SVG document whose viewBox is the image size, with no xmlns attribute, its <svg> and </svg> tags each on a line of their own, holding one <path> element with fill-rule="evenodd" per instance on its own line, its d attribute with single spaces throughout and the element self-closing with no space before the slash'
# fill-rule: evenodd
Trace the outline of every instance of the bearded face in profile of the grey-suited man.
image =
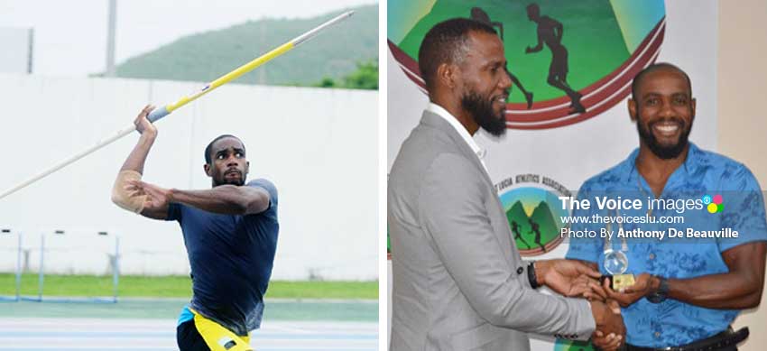
<svg viewBox="0 0 767 351">
<path fill-rule="evenodd" d="M 506 131 L 506 98 L 512 80 L 506 71 L 504 44 L 497 35 L 469 33 L 470 50 L 460 65 L 461 106 L 490 134 Z"/>
</svg>

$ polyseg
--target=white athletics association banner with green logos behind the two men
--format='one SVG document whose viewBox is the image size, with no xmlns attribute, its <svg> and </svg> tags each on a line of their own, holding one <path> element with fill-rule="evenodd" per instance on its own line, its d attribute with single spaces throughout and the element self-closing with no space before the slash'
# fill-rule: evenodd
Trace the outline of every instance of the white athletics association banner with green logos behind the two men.
<svg viewBox="0 0 767 351">
<path fill-rule="evenodd" d="M 690 140 L 716 151 L 714 0 L 389 0 L 388 167 L 428 102 L 418 69 L 423 36 L 441 21 L 474 18 L 504 42 L 513 88 L 506 134 L 476 142 L 517 247 L 535 259 L 563 257 L 559 196 L 623 161 L 638 147 L 626 99 L 633 76 L 655 61 L 687 71 L 697 116 Z M 391 302 L 391 265 L 389 267 Z M 391 307 L 390 313 L 391 316 Z M 533 337 L 535 350 L 589 350 Z"/>
</svg>

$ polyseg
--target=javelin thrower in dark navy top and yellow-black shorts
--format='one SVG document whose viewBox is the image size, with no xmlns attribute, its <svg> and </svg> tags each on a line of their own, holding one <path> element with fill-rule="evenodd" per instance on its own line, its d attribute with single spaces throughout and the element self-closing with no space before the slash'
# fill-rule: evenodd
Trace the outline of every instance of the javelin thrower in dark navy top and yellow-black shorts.
<svg viewBox="0 0 767 351">
<path fill-rule="evenodd" d="M 181 350 L 251 350 L 261 325 L 263 294 L 277 247 L 277 189 L 269 180 L 245 183 L 245 145 L 224 134 L 208 143 L 203 169 L 212 189 L 162 189 L 141 180 L 157 129 L 146 106 L 134 124 L 139 142 L 120 170 L 112 200 L 143 217 L 175 220 L 189 254 L 192 299 L 179 318 Z"/>
</svg>

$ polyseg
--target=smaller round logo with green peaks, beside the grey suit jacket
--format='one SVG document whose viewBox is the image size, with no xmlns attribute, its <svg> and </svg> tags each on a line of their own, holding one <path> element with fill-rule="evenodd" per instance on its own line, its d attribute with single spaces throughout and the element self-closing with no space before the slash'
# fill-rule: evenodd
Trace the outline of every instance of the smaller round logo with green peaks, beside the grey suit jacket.
<svg viewBox="0 0 767 351">
<path fill-rule="evenodd" d="M 540 174 L 518 174 L 495 184 L 513 239 L 522 256 L 546 254 L 562 242 L 561 218 L 568 211 L 560 196 L 571 196 L 556 180 Z"/>
</svg>

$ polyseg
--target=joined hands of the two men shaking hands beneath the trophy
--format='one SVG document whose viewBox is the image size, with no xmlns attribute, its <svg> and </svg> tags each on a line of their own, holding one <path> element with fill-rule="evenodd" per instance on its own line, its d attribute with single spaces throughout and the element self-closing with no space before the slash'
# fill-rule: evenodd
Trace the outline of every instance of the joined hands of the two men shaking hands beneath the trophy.
<svg viewBox="0 0 767 351">
<path fill-rule="evenodd" d="M 626 328 L 620 307 L 627 306 L 638 298 L 633 299 L 633 296 L 624 291 L 613 291 L 609 280 L 600 284 L 601 273 L 586 263 L 555 259 L 536 261 L 534 266 L 540 285 L 546 285 L 552 291 L 567 297 L 589 300 L 596 323 L 596 331 L 591 336 L 594 346 L 602 350 L 615 350 L 624 344 Z M 644 283 L 647 278 L 642 274 L 635 285 Z"/>
</svg>

